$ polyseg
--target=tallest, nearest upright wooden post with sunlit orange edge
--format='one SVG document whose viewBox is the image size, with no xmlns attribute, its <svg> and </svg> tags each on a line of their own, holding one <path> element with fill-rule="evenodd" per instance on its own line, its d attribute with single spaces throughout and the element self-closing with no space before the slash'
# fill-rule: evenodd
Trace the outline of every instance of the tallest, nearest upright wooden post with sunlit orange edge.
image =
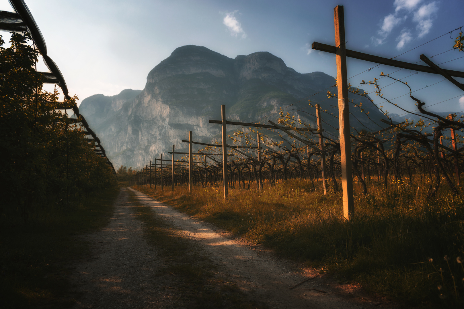
<svg viewBox="0 0 464 309">
<path fill-rule="evenodd" d="M 353 174 L 351 170 L 351 142 L 349 132 L 349 102 L 347 58 L 345 46 L 345 19 L 343 6 L 334 8 L 335 59 L 337 62 L 338 119 L 340 123 L 340 152 L 342 159 L 343 217 L 350 220 L 354 215 Z"/>
</svg>

